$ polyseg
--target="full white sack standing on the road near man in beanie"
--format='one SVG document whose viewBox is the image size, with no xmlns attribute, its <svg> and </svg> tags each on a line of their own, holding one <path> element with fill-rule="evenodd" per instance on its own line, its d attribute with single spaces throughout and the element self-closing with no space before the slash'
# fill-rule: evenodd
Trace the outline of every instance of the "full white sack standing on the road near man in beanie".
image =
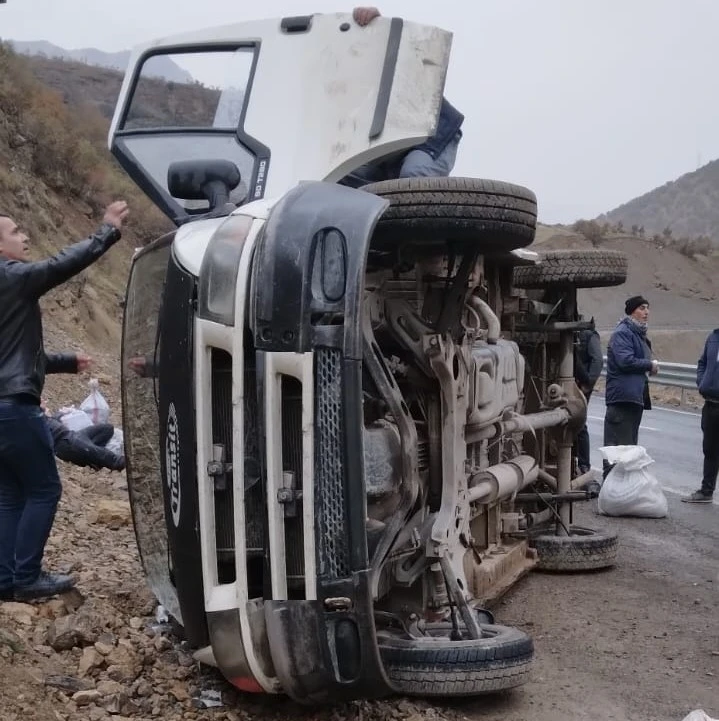
<svg viewBox="0 0 719 721">
<path fill-rule="evenodd" d="M 604 446 L 599 452 L 616 464 L 599 491 L 599 512 L 606 516 L 664 518 L 667 497 L 648 470 L 654 461 L 642 446 Z"/>
</svg>

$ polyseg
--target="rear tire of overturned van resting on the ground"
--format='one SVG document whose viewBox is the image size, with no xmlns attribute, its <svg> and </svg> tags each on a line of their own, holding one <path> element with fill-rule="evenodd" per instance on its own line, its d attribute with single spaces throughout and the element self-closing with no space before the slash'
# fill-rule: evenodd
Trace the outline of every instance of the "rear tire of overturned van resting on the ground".
<svg viewBox="0 0 719 721">
<path fill-rule="evenodd" d="M 610 568 L 617 561 L 616 533 L 570 526 L 569 536 L 541 533 L 530 538 L 537 551 L 537 568 L 542 571 L 595 571 Z"/>
</svg>

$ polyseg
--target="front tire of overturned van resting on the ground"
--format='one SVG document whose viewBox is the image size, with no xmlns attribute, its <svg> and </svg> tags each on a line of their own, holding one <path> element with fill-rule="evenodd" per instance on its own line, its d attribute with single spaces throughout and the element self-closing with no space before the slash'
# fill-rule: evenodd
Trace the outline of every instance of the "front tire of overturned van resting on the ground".
<svg viewBox="0 0 719 721">
<path fill-rule="evenodd" d="M 478 696 L 521 686 L 529 680 L 532 639 L 509 626 L 482 625 L 485 638 L 466 641 L 379 634 L 387 675 L 412 696 Z"/>
</svg>

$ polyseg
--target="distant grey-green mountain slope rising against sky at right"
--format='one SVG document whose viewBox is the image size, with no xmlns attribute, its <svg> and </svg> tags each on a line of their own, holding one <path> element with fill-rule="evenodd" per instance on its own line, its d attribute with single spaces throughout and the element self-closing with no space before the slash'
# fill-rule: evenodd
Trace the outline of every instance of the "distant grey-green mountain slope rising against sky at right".
<svg viewBox="0 0 719 721">
<path fill-rule="evenodd" d="M 600 223 L 626 230 L 644 226 L 646 235 L 705 236 L 719 243 L 719 160 L 682 175 L 599 216 Z M 670 231 L 670 233 L 665 231 Z"/>
</svg>

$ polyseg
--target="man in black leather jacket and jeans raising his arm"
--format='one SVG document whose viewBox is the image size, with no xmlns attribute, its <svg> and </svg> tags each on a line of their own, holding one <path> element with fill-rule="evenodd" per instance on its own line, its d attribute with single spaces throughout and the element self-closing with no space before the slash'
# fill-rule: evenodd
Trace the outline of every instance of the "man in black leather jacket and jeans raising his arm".
<svg viewBox="0 0 719 721">
<path fill-rule="evenodd" d="M 29 262 L 28 236 L 0 214 L 0 600 L 51 596 L 70 576 L 42 570 L 61 485 L 52 437 L 40 408 L 47 372 L 77 371 L 43 349 L 39 299 L 87 268 L 119 239 L 127 204 L 107 207 L 86 240 Z"/>
</svg>

